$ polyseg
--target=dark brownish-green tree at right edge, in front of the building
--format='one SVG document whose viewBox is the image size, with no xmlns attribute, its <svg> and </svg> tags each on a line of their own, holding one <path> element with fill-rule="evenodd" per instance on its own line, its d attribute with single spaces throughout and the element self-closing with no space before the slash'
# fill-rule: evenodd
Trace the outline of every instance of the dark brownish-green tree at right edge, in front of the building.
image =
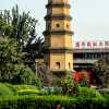
<svg viewBox="0 0 109 109">
<path fill-rule="evenodd" d="M 94 65 L 96 84 L 100 87 L 109 87 L 109 59 L 100 59 Z"/>
</svg>

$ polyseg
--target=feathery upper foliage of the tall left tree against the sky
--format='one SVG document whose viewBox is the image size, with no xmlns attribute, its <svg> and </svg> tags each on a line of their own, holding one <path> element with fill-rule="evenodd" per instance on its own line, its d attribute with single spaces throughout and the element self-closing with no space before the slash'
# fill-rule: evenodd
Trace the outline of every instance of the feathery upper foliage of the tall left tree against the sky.
<svg viewBox="0 0 109 109">
<path fill-rule="evenodd" d="M 35 38 L 35 25 L 37 21 L 29 13 L 20 14 L 17 5 L 11 11 L 4 10 L 0 13 L 0 31 L 2 35 L 14 38 L 20 48 Z M 33 36 L 33 37 L 29 37 Z"/>
</svg>

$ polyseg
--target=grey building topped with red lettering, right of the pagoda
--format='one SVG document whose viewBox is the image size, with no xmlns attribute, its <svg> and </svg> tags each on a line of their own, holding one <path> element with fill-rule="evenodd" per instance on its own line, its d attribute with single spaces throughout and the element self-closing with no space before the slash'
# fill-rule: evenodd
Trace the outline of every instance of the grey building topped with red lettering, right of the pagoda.
<svg viewBox="0 0 109 109">
<path fill-rule="evenodd" d="M 74 70 L 92 71 L 99 59 L 109 58 L 109 40 L 105 41 L 76 41 L 74 43 Z"/>
</svg>

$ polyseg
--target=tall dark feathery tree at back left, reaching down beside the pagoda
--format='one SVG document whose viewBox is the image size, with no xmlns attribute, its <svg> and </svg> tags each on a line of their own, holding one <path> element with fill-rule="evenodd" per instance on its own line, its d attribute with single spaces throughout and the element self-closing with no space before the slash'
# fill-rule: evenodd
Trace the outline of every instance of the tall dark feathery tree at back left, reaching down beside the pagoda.
<svg viewBox="0 0 109 109">
<path fill-rule="evenodd" d="M 14 38 L 19 49 L 27 52 L 24 61 L 28 61 L 25 63 L 32 70 L 35 70 L 35 59 L 43 56 L 44 50 L 44 39 L 37 36 L 36 24 L 37 20 L 29 16 L 29 13 L 20 14 L 17 5 L 0 13 L 0 35 Z"/>
</svg>

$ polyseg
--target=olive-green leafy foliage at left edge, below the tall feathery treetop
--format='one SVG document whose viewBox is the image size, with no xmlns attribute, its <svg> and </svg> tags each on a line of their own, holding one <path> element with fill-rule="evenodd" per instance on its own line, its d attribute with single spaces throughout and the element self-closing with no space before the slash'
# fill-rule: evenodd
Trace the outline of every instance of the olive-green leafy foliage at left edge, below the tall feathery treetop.
<svg viewBox="0 0 109 109">
<path fill-rule="evenodd" d="M 17 69 L 21 68 L 23 53 L 19 51 L 17 45 L 14 39 L 8 37 L 0 37 L 0 81 L 13 81 L 17 75 Z"/>
</svg>

